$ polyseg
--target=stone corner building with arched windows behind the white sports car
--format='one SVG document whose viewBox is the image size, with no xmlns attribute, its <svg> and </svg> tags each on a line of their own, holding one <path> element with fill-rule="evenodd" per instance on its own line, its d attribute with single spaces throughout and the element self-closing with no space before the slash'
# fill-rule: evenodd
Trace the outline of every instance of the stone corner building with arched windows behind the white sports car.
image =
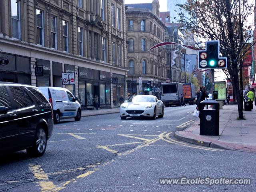
<svg viewBox="0 0 256 192">
<path fill-rule="evenodd" d="M 159 2 L 126 4 L 128 94 L 161 95 L 166 82 L 166 56 L 163 48 L 148 51 L 164 41 L 165 25 L 159 18 Z M 139 86 L 142 77 L 142 86 Z M 152 91 L 144 88 L 150 83 Z"/>
</svg>

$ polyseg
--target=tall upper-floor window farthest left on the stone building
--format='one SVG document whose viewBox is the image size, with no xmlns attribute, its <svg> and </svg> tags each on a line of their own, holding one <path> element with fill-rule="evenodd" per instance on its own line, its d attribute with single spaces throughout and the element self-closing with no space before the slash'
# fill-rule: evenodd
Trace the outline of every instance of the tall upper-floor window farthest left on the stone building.
<svg viewBox="0 0 256 192">
<path fill-rule="evenodd" d="M 12 0 L 12 37 L 20 39 L 20 1 Z"/>
</svg>

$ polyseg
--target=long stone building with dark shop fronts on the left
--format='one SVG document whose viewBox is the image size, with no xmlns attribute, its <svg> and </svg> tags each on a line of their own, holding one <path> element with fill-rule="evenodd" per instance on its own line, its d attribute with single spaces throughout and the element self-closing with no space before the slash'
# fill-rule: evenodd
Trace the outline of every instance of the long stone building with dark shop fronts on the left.
<svg viewBox="0 0 256 192">
<path fill-rule="evenodd" d="M 101 107 L 118 106 L 127 92 L 124 2 L 1 0 L 0 57 L 9 61 L 0 81 L 66 87 L 82 108 L 96 94 Z M 62 72 L 74 72 L 75 84 L 63 86 Z"/>
</svg>

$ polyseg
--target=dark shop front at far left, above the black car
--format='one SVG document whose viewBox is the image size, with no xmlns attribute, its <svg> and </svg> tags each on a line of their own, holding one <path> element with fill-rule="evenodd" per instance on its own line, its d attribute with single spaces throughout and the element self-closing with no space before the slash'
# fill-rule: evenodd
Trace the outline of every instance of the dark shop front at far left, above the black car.
<svg viewBox="0 0 256 192">
<path fill-rule="evenodd" d="M 0 52 L 0 81 L 31 84 L 30 58 Z"/>
</svg>

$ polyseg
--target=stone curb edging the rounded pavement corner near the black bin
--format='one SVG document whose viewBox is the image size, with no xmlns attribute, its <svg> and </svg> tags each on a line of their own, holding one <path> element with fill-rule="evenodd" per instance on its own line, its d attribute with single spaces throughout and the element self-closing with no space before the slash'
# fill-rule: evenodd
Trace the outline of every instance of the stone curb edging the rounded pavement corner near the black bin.
<svg viewBox="0 0 256 192">
<path fill-rule="evenodd" d="M 184 142 L 188 142 L 188 143 L 192 143 L 192 144 L 196 144 L 196 145 L 201 145 L 201 146 L 207 146 L 207 147 L 212 147 L 212 148 L 220 148 L 220 149 L 227 149 L 227 150 L 235 150 L 233 148 L 224 146 L 224 145 L 220 145 L 220 144 L 216 144 L 214 142 L 210 142 L 207 140 L 196 140 L 193 138 L 189 138 L 189 137 L 185 137 L 181 134 L 178 133 L 179 131 L 176 131 L 174 133 L 174 137 L 178 140 L 182 140 Z"/>
</svg>

